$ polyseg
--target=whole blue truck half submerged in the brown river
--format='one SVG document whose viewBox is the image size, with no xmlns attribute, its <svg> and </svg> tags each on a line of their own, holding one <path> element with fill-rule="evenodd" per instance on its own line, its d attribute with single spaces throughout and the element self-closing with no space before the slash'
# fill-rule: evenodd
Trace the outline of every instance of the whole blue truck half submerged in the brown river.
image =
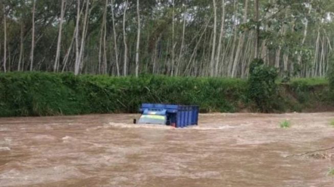
<svg viewBox="0 0 334 187">
<path fill-rule="evenodd" d="M 176 128 L 198 125 L 198 106 L 143 103 L 139 124 L 161 124 Z"/>
</svg>

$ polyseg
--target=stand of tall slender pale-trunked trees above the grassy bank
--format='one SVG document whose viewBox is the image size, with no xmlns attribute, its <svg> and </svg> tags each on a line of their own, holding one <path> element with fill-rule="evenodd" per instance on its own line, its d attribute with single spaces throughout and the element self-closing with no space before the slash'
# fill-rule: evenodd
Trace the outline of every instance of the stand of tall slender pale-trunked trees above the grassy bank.
<svg viewBox="0 0 334 187">
<path fill-rule="evenodd" d="M 2 0 L 0 70 L 325 77 L 332 0 Z"/>
</svg>

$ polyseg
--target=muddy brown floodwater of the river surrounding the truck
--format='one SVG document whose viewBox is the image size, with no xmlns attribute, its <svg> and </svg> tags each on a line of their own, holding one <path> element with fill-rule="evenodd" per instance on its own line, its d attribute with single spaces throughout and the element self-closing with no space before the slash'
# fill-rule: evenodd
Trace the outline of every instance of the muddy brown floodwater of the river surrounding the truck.
<svg viewBox="0 0 334 187">
<path fill-rule="evenodd" d="M 334 113 L 138 117 L 1 118 L 0 186 L 334 186 L 334 150 L 291 156 L 334 146 Z"/>
</svg>

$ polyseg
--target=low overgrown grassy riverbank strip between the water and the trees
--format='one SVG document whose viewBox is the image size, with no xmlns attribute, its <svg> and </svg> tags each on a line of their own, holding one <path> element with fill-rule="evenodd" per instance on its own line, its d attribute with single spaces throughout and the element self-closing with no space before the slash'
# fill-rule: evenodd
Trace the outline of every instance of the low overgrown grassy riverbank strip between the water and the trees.
<svg viewBox="0 0 334 187">
<path fill-rule="evenodd" d="M 276 84 L 279 99 L 267 112 L 332 107 L 325 79 Z M 246 80 L 229 78 L 2 73 L 0 116 L 132 113 L 142 102 L 198 104 L 202 112 L 263 111 L 248 96 L 249 88 Z"/>
</svg>

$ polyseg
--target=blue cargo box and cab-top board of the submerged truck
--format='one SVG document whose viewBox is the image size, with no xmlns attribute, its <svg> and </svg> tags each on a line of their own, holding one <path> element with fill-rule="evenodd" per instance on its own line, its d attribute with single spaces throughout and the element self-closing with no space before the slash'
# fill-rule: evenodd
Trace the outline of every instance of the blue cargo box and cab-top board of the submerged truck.
<svg viewBox="0 0 334 187">
<path fill-rule="evenodd" d="M 166 125 L 183 128 L 198 125 L 198 106 L 177 104 L 143 103 L 140 112 L 143 115 L 166 116 Z"/>
</svg>

